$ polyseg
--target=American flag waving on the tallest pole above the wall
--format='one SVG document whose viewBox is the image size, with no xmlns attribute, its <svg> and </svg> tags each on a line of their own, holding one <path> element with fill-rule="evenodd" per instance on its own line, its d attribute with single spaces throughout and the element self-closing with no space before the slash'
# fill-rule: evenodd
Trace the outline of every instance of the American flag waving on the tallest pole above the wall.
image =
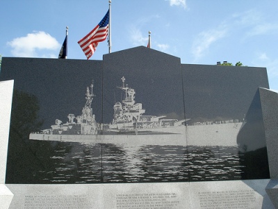
<svg viewBox="0 0 278 209">
<path fill-rule="evenodd" d="M 108 35 L 108 23 L 109 23 L 109 10 L 107 11 L 104 18 L 92 29 L 87 36 L 79 40 L 79 45 L 83 50 L 87 59 L 94 54 L 99 42 L 106 40 Z"/>
</svg>

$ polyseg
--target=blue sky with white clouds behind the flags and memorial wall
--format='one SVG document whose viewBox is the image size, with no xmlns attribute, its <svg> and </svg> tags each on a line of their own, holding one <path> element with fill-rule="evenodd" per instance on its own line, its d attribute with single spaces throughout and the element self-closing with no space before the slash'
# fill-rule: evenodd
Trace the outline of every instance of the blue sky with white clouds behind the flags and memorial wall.
<svg viewBox="0 0 278 209">
<path fill-rule="evenodd" d="M 78 41 L 108 10 L 108 0 L 1 0 L 0 54 L 58 58 L 69 27 L 67 58 L 86 59 Z M 146 46 L 181 58 L 181 63 L 228 61 L 265 67 L 278 90 L 278 1 L 112 0 L 112 52 Z M 90 60 L 102 60 L 100 42 Z"/>
</svg>

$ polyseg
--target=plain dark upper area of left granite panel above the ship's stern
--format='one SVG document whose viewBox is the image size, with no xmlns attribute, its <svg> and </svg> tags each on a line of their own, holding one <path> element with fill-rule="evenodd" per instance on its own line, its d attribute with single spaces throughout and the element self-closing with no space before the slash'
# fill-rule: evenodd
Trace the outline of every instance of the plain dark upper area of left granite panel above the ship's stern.
<svg viewBox="0 0 278 209">
<path fill-rule="evenodd" d="M 16 90 L 38 98 L 39 115 L 45 129 L 56 119 L 65 123 L 68 114 L 81 114 L 86 88 L 92 79 L 95 80 L 96 95 L 92 106 L 97 121 L 100 121 L 101 68 L 102 61 L 3 57 L 0 80 L 14 79 Z"/>
</svg>

